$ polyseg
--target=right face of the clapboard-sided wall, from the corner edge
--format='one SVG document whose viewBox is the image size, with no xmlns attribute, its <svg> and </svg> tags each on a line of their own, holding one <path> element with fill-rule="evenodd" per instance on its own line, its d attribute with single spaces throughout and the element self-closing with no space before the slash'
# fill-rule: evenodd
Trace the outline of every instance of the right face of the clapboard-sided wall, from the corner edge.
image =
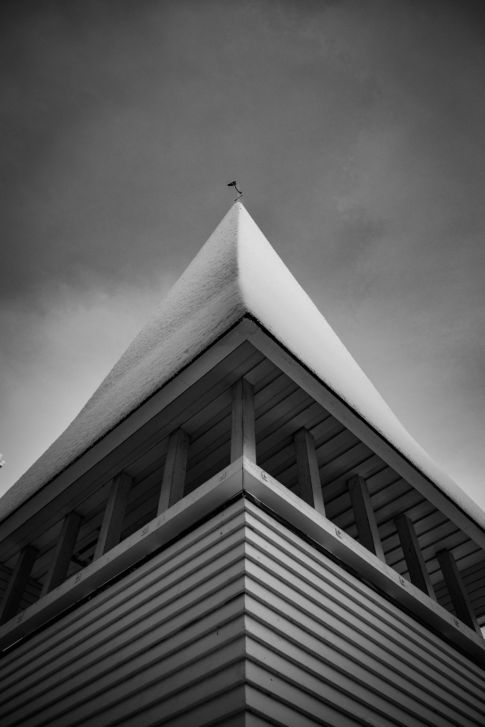
<svg viewBox="0 0 485 727">
<path fill-rule="evenodd" d="M 484 725 L 484 670 L 247 507 L 249 709 L 288 726 Z"/>
</svg>

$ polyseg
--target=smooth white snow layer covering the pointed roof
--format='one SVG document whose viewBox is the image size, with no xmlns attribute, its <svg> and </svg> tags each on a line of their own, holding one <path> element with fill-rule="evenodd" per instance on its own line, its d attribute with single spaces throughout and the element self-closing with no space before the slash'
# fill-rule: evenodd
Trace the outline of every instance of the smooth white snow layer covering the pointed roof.
<svg viewBox="0 0 485 727">
<path fill-rule="evenodd" d="M 482 510 L 398 422 L 240 202 L 231 207 L 76 419 L 0 499 L 0 519 L 247 313 L 485 528 Z"/>
</svg>

